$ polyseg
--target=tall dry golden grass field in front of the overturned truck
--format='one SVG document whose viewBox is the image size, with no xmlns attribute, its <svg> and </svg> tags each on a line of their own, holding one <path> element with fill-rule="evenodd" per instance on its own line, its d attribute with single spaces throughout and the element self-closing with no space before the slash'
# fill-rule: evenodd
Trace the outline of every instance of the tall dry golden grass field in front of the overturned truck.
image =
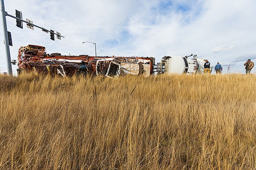
<svg viewBox="0 0 256 170">
<path fill-rule="evenodd" d="M 0 75 L 0 169 L 256 169 L 255 75 Z"/>
</svg>

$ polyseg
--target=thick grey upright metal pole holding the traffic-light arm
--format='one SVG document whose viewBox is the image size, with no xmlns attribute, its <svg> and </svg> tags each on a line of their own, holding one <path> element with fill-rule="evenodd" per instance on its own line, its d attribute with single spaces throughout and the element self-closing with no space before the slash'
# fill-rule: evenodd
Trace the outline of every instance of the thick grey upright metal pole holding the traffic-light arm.
<svg viewBox="0 0 256 170">
<path fill-rule="evenodd" d="M 6 12 L 5 12 L 5 8 L 4 8 L 4 0 L 1 0 L 1 16 L 2 16 L 2 25 L 3 25 L 3 34 L 4 34 L 7 72 L 8 72 L 8 75 L 12 75 L 11 55 L 10 55 L 9 39 L 8 39 L 8 33 L 7 33 Z"/>
</svg>

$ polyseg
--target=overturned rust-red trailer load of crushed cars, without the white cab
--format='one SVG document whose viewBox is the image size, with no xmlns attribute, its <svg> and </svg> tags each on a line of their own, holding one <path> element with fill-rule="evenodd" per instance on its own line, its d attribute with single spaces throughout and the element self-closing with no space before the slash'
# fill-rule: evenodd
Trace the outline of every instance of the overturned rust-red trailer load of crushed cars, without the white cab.
<svg viewBox="0 0 256 170">
<path fill-rule="evenodd" d="M 153 74 L 153 66 L 153 57 L 63 56 L 60 53 L 49 55 L 43 46 L 27 45 L 20 47 L 18 51 L 17 72 L 59 74 L 63 77 L 90 73 L 113 78 L 122 75 L 149 76 Z"/>
</svg>

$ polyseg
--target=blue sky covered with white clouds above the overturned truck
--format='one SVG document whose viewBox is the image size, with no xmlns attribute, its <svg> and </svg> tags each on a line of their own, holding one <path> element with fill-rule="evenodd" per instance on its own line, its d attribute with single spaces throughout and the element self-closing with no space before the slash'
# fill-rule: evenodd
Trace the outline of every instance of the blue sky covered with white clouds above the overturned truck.
<svg viewBox="0 0 256 170">
<path fill-rule="evenodd" d="M 255 0 L 5 0 L 5 11 L 15 9 L 34 24 L 60 32 L 55 41 L 39 28 L 16 27 L 6 17 L 17 59 L 20 46 L 46 47 L 62 55 L 149 56 L 159 62 L 164 56 L 191 53 L 220 62 L 226 73 L 244 73 L 244 62 L 256 64 Z M 2 22 L 0 23 L 0 72 L 6 72 Z M 14 74 L 17 66 L 12 65 Z M 252 69 L 256 73 L 256 68 Z"/>
</svg>

